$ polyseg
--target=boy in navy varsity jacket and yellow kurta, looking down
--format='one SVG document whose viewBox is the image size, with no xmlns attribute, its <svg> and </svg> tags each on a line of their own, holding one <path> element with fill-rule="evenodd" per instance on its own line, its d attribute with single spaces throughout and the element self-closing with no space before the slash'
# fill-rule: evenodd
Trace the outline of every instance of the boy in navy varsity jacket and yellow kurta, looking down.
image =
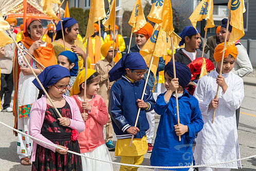
<svg viewBox="0 0 256 171">
<path fill-rule="evenodd" d="M 128 53 L 108 72 L 109 81 L 115 81 L 109 94 L 108 111 L 117 136 L 115 156 L 121 156 L 121 163 L 141 164 L 147 153 L 145 136 L 149 123 L 145 111 L 154 108 L 155 100 L 147 86 L 141 99 L 145 82 L 141 80 L 147 65 L 139 53 Z M 121 79 L 120 79 L 121 78 Z M 138 108 L 141 108 L 135 125 Z M 130 142 L 134 135 L 132 146 Z M 120 166 L 120 170 L 137 170 L 134 167 Z"/>
</svg>

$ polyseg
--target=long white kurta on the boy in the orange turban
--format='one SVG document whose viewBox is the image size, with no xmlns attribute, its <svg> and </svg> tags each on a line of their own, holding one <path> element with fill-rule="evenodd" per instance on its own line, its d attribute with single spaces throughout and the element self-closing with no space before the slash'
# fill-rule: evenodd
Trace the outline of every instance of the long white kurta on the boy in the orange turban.
<svg viewBox="0 0 256 171">
<path fill-rule="evenodd" d="M 212 123 L 213 109 L 208 110 L 208 105 L 216 95 L 217 75 L 216 70 L 205 75 L 198 81 L 194 92 L 204 120 L 204 127 L 196 139 L 194 152 L 196 165 L 220 163 L 240 158 L 235 110 L 241 106 L 244 98 L 244 83 L 239 76 L 232 72 L 223 74 L 228 89 L 223 93 L 220 87 L 218 108 L 216 108 L 214 123 Z M 213 167 L 237 168 L 241 167 L 241 162 Z"/>
</svg>

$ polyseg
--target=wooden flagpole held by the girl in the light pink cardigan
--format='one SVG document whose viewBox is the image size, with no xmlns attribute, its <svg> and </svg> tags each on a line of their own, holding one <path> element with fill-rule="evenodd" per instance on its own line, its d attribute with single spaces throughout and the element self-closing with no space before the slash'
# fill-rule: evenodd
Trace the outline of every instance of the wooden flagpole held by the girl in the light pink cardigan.
<svg viewBox="0 0 256 171">
<path fill-rule="evenodd" d="M 14 37 L 13 37 L 12 33 L 10 32 L 10 30 L 6 30 L 6 31 L 10 34 L 10 36 L 11 36 L 13 42 L 15 43 L 16 47 L 17 47 L 17 48 L 19 49 L 19 51 L 21 52 L 24 61 L 27 63 L 29 69 L 31 70 L 32 74 L 34 75 L 36 81 L 38 81 L 40 87 L 41 87 L 42 90 L 44 91 L 46 97 L 49 99 L 49 101 L 50 101 L 50 103 L 52 104 L 53 108 L 56 110 L 56 112 L 58 113 L 59 117 L 62 118 L 61 113 L 60 113 L 59 110 L 56 108 L 56 106 L 53 104 L 51 98 L 49 97 L 49 94 L 47 93 L 47 91 L 45 90 L 44 86 L 42 85 L 42 83 L 41 83 L 40 80 L 38 79 L 38 76 L 35 74 L 33 68 L 31 67 L 31 65 L 30 65 L 30 63 L 28 62 L 26 56 L 25 56 L 24 53 L 22 52 L 20 46 L 17 44 L 16 39 L 14 39 Z"/>
</svg>

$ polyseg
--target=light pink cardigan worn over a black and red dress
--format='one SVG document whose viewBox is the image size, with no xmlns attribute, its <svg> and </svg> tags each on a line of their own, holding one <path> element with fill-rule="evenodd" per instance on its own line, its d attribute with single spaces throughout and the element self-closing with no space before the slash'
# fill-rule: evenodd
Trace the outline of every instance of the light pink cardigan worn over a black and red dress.
<svg viewBox="0 0 256 171">
<path fill-rule="evenodd" d="M 71 113 L 72 113 L 72 119 L 70 119 L 69 127 L 72 129 L 76 129 L 79 132 L 82 132 L 85 128 L 85 125 L 76 101 L 65 95 L 63 95 L 62 97 L 69 104 Z M 45 117 L 46 105 L 47 105 L 46 96 L 42 97 L 41 99 L 35 101 L 32 104 L 32 108 L 30 111 L 30 119 L 29 119 L 29 135 L 35 138 L 38 138 L 42 141 L 45 141 L 49 144 L 56 145 L 41 134 L 41 128 L 43 126 L 44 117 Z M 31 161 L 35 160 L 36 144 L 39 144 L 45 148 L 49 148 L 52 151 L 56 150 L 56 148 L 52 146 L 33 140 Z"/>
</svg>

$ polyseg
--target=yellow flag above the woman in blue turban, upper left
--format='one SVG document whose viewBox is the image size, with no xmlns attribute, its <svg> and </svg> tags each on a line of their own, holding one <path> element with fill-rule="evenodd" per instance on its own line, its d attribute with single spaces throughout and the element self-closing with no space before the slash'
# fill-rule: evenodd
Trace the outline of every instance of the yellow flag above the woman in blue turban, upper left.
<svg viewBox="0 0 256 171">
<path fill-rule="evenodd" d="M 40 5 L 43 7 L 43 11 L 44 13 L 46 13 L 47 16 L 49 16 L 53 20 L 59 20 L 56 13 L 53 11 L 51 3 L 61 4 L 60 0 L 42 0 Z"/>
</svg>

